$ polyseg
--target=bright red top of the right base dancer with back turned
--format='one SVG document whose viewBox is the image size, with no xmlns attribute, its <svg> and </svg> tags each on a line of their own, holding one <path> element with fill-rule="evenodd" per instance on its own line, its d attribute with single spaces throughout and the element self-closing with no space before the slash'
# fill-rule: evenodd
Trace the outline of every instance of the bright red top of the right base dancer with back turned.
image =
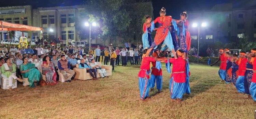
<svg viewBox="0 0 256 119">
<path fill-rule="evenodd" d="M 179 57 L 178 59 L 172 58 L 169 60 L 169 62 L 172 63 L 171 78 L 173 77 L 174 81 L 177 83 L 186 82 L 186 69 L 185 69 L 186 61 L 182 57 Z M 177 73 L 177 72 L 182 72 L 182 73 Z"/>
</svg>

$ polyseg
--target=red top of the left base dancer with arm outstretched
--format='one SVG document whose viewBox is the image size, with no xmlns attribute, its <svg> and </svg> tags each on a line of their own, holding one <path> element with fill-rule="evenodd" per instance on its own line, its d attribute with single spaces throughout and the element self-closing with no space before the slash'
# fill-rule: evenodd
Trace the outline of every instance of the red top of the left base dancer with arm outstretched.
<svg viewBox="0 0 256 119">
<path fill-rule="evenodd" d="M 146 71 L 150 71 L 150 62 L 155 62 L 154 57 L 144 57 L 142 58 L 141 65 L 140 65 L 140 72 L 138 74 L 138 77 L 149 78 L 149 75 L 146 75 Z"/>
</svg>

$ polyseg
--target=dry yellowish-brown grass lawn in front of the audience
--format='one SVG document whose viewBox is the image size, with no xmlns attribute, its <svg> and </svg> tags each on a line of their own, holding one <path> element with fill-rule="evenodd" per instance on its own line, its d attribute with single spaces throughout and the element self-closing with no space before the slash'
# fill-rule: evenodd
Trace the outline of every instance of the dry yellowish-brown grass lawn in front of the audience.
<svg viewBox="0 0 256 119">
<path fill-rule="evenodd" d="M 162 65 L 163 66 L 163 65 Z M 218 67 L 190 65 L 190 95 L 170 101 L 169 78 L 163 71 L 162 93 L 156 87 L 151 100 L 140 100 L 139 66 L 115 66 L 109 78 L 74 80 L 39 88 L 21 84 L 11 92 L 0 90 L 0 118 L 205 118 L 253 119 L 256 103 L 220 82 Z"/>
</svg>

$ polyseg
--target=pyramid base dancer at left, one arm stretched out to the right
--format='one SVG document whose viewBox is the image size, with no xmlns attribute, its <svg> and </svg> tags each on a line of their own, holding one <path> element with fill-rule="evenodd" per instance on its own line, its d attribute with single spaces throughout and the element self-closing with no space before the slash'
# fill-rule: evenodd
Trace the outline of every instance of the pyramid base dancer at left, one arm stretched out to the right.
<svg viewBox="0 0 256 119">
<path fill-rule="evenodd" d="M 140 89 L 140 99 L 144 101 L 149 97 L 149 89 L 150 89 L 150 62 L 162 61 L 166 58 L 154 58 L 146 55 L 148 49 L 144 49 L 140 72 L 138 74 L 139 77 L 139 89 Z"/>
</svg>

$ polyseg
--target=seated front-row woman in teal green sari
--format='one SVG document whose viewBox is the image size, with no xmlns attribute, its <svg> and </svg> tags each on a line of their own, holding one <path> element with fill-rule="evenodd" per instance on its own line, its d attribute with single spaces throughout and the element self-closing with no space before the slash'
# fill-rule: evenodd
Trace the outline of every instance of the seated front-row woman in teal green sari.
<svg viewBox="0 0 256 119">
<path fill-rule="evenodd" d="M 40 79 L 40 72 L 34 68 L 35 64 L 28 63 L 28 58 L 22 58 L 23 63 L 20 64 L 19 69 L 22 73 L 23 78 L 28 78 L 29 86 L 30 87 L 37 87 L 37 84 Z"/>
</svg>

